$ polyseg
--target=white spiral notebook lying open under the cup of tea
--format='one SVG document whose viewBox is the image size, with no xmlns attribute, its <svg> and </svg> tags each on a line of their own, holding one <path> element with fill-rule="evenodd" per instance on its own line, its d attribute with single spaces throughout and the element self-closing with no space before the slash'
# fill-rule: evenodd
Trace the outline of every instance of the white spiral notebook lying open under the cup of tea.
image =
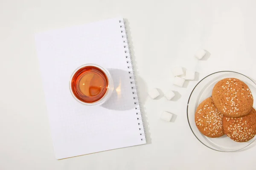
<svg viewBox="0 0 256 170">
<path fill-rule="evenodd" d="M 39 33 L 35 41 L 57 159 L 146 143 L 122 18 Z M 71 74 L 87 63 L 113 77 L 102 106 L 82 105 L 70 93 Z"/>
</svg>

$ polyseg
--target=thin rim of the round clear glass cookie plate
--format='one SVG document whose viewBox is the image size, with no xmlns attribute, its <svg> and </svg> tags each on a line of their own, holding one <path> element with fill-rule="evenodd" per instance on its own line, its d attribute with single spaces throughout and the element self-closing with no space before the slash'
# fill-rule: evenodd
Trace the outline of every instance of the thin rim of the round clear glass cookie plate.
<svg viewBox="0 0 256 170">
<path fill-rule="evenodd" d="M 248 79 L 250 79 L 250 80 L 256 85 L 256 83 L 255 83 L 250 77 L 248 77 L 248 76 L 246 76 L 246 75 L 244 75 L 244 74 L 241 74 L 241 73 L 239 73 L 239 72 L 236 72 L 236 71 L 217 71 L 217 72 L 214 72 L 214 73 L 212 73 L 212 74 L 217 74 L 217 73 L 222 73 L 222 72 L 231 72 L 231 73 L 240 74 L 240 75 L 242 75 L 242 76 L 247 77 Z M 204 79 L 206 79 L 207 77 L 211 76 L 212 74 L 207 75 L 206 77 L 204 77 L 203 79 L 201 79 L 201 80 L 195 85 L 195 87 L 193 88 L 193 90 L 191 91 L 191 93 L 190 93 L 190 95 L 189 95 L 189 99 L 188 99 L 188 102 L 187 102 L 187 109 L 186 109 L 186 112 L 187 112 L 187 121 L 188 121 L 190 130 L 192 131 L 192 133 L 194 134 L 194 136 L 195 136 L 196 139 L 198 139 L 198 137 L 195 135 L 195 133 L 194 133 L 194 131 L 192 130 L 192 127 L 191 127 L 191 125 L 190 125 L 190 123 L 189 123 L 189 114 L 188 114 L 189 100 L 190 100 L 190 97 L 191 97 L 193 91 L 194 91 L 195 88 L 199 85 L 199 83 L 200 83 L 201 81 L 203 81 Z M 246 145 L 245 147 L 242 147 L 241 149 L 238 149 L 238 150 L 231 150 L 231 151 L 224 151 L 224 150 L 217 150 L 217 149 L 214 149 L 214 148 L 212 148 L 212 147 L 209 147 L 209 146 L 207 146 L 206 144 L 204 144 L 200 139 L 198 139 L 198 141 L 201 142 L 201 144 L 203 144 L 204 146 L 206 146 L 206 147 L 208 147 L 208 148 L 210 148 L 210 149 L 212 149 L 212 150 L 218 151 L 218 152 L 236 152 L 236 151 L 239 151 L 239 150 L 243 150 L 244 148 L 246 148 L 246 147 L 250 146 L 251 144 L 253 144 L 253 143 L 255 142 L 255 140 L 256 140 L 256 138 L 255 138 L 250 144 Z"/>
</svg>

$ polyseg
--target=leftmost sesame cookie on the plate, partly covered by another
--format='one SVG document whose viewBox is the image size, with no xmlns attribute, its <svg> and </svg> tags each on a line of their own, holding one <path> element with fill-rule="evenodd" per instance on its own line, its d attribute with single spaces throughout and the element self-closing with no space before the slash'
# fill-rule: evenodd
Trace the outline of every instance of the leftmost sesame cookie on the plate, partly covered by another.
<svg viewBox="0 0 256 170">
<path fill-rule="evenodd" d="M 224 135 L 220 111 L 215 107 L 212 97 L 205 99 L 195 112 L 195 124 L 205 136 L 217 138 Z"/>
</svg>

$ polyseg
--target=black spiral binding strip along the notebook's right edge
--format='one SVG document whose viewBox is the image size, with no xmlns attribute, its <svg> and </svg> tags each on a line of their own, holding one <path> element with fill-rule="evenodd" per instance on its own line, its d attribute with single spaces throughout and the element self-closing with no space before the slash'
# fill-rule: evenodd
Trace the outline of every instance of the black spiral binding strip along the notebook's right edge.
<svg viewBox="0 0 256 170">
<path fill-rule="evenodd" d="M 132 56 L 131 56 L 131 51 L 129 50 L 130 45 L 129 45 L 129 41 L 127 40 L 128 36 L 126 35 L 127 31 L 125 30 L 125 21 L 124 20 L 119 20 L 120 23 L 120 29 L 121 29 L 121 33 L 122 33 L 122 39 L 123 39 L 123 47 L 125 50 L 125 58 L 127 59 L 126 63 L 128 64 L 127 68 L 131 69 L 130 71 L 128 71 L 129 75 L 130 75 L 130 79 L 131 79 L 131 89 L 133 90 L 132 94 L 133 94 L 133 99 L 134 99 L 134 105 L 135 105 L 135 110 L 136 110 L 136 115 L 137 115 L 137 121 L 138 121 L 138 125 L 139 125 L 139 130 L 140 130 L 140 140 L 141 141 L 145 141 L 146 140 L 146 136 L 145 136 L 145 128 L 143 127 L 144 122 L 143 122 L 143 117 L 142 117 L 142 112 L 141 112 L 141 107 L 140 107 L 140 102 L 139 99 L 140 97 L 138 96 L 138 92 L 137 92 L 137 86 L 136 86 L 136 77 L 134 75 L 134 66 L 133 66 L 133 62 L 132 62 Z"/>
</svg>

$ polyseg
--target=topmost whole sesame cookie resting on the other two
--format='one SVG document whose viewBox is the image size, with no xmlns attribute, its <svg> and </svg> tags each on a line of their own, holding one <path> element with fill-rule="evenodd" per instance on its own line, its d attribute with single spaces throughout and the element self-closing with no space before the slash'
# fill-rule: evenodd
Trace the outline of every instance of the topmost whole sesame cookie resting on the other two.
<svg viewBox="0 0 256 170">
<path fill-rule="evenodd" d="M 239 79 L 227 78 L 217 82 L 212 90 L 212 100 L 224 116 L 241 117 L 253 108 L 253 95 Z"/>
</svg>

